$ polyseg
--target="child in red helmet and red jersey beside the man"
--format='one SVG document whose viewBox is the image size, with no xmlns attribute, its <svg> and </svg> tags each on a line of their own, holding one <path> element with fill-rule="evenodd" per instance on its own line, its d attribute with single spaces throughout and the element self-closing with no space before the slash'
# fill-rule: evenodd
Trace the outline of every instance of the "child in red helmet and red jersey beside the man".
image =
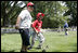
<svg viewBox="0 0 78 53">
<path fill-rule="evenodd" d="M 41 27 L 42 27 L 42 18 L 43 18 L 44 14 L 43 13 L 38 13 L 37 14 L 37 19 L 32 23 L 31 27 L 34 29 L 35 32 L 32 32 L 32 38 L 31 38 L 31 47 L 29 49 L 31 49 L 34 47 L 35 43 L 35 38 L 38 37 L 39 38 L 39 45 L 38 49 L 41 49 L 42 43 L 44 41 L 44 37 L 41 34 Z"/>
</svg>

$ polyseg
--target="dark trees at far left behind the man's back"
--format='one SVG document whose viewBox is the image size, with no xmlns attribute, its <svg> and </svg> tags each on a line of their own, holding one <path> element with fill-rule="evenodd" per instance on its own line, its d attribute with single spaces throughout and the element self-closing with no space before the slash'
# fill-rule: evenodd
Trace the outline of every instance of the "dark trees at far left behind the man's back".
<svg viewBox="0 0 78 53">
<path fill-rule="evenodd" d="M 2 26 L 15 24 L 18 13 L 23 10 L 17 5 L 18 1 L 1 1 L 1 19 Z"/>
</svg>

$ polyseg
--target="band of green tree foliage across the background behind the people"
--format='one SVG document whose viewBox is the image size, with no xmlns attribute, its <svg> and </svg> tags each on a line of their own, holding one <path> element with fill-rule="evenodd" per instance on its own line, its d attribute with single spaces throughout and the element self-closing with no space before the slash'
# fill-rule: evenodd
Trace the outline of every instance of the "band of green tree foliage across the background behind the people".
<svg viewBox="0 0 78 53">
<path fill-rule="evenodd" d="M 14 2 L 13 6 L 11 4 Z M 2 26 L 15 25 L 17 15 L 23 10 L 17 5 L 18 1 L 1 1 L 1 18 Z M 32 22 L 36 19 L 38 12 L 46 14 L 42 19 L 42 28 L 55 28 L 63 27 L 64 22 L 67 21 L 70 25 L 76 25 L 77 22 L 77 2 L 76 1 L 23 1 L 25 4 L 28 2 L 35 3 L 35 10 L 31 12 L 34 17 Z M 65 3 L 65 5 L 62 5 Z M 21 5 L 21 4 L 20 4 Z M 69 18 L 68 15 L 72 15 Z M 67 17 L 66 17 L 67 16 Z"/>
</svg>

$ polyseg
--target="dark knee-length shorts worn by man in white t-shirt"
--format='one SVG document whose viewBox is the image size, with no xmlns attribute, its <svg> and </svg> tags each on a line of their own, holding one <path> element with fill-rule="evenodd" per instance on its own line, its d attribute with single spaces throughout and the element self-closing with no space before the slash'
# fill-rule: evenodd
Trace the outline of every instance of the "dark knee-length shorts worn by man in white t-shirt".
<svg viewBox="0 0 78 53">
<path fill-rule="evenodd" d="M 20 30 L 20 34 L 21 34 L 21 37 L 22 37 L 22 43 L 23 45 L 30 45 L 30 42 L 29 42 L 29 29 L 18 29 Z"/>
</svg>

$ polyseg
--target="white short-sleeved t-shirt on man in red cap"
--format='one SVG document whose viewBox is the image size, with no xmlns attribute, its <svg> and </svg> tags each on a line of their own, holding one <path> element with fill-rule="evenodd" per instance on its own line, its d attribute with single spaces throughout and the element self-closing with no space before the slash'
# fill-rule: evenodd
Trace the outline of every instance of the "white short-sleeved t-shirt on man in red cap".
<svg viewBox="0 0 78 53">
<path fill-rule="evenodd" d="M 20 28 L 30 28 L 32 17 L 29 11 L 23 10 L 18 16 L 21 17 Z"/>
</svg>

